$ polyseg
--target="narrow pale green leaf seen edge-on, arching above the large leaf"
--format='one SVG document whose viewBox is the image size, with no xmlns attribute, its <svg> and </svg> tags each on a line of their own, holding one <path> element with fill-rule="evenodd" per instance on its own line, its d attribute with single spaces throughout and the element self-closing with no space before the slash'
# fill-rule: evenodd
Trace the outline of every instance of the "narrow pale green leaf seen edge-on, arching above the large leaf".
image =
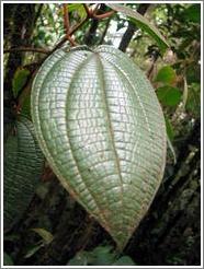
<svg viewBox="0 0 204 269">
<path fill-rule="evenodd" d="M 169 48 L 169 44 L 167 43 L 166 38 L 160 34 L 158 28 L 150 24 L 150 22 L 140 15 L 137 11 L 132 10 L 128 7 L 116 4 L 116 3 L 105 3 L 111 9 L 121 12 L 129 17 L 132 21 L 147 34 L 149 34 L 156 42 L 161 52 L 165 54 L 166 49 Z"/>
</svg>

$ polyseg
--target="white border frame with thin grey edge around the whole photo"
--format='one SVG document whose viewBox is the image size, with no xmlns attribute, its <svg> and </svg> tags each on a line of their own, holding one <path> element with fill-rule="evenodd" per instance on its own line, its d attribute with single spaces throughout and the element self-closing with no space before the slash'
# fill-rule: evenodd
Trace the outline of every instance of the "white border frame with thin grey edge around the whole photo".
<svg viewBox="0 0 204 269">
<path fill-rule="evenodd" d="M 1 151 L 1 268 L 203 268 L 203 1 L 1 1 L 1 56 L 3 58 L 3 3 L 200 3 L 201 4 L 201 266 L 3 266 L 3 151 Z M 1 149 L 3 149 L 3 60 L 1 59 Z"/>
</svg>

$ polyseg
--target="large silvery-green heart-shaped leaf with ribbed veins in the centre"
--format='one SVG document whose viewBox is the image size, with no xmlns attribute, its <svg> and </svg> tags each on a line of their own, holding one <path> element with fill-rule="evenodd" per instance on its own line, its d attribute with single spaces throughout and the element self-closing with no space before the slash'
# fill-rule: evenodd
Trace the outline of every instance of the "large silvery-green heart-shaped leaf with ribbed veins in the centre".
<svg viewBox="0 0 204 269">
<path fill-rule="evenodd" d="M 113 47 L 63 48 L 38 71 L 31 108 L 53 171 L 123 248 L 165 168 L 166 125 L 149 81 Z"/>
</svg>

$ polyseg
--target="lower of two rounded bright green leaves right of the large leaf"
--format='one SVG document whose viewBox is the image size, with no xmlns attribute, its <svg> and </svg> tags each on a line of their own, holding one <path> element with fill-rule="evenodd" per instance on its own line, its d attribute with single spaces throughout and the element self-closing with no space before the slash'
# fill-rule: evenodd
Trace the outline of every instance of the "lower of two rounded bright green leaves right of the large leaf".
<svg viewBox="0 0 204 269">
<path fill-rule="evenodd" d="M 156 93 L 165 106 L 177 106 L 181 102 L 182 93 L 178 87 L 166 85 L 158 87 Z"/>
</svg>

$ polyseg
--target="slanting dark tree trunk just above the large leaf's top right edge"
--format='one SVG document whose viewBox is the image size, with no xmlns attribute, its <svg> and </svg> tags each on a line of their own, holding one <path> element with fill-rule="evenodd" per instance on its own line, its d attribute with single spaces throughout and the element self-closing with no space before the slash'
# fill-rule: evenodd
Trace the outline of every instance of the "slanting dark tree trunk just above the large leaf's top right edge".
<svg viewBox="0 0 204 269">
<path fill-rule="evenodd" d="M 139 4 L 139 8 L 137 10 L 137 12 L 141 15 L 144 15 L 147 11 L 147 9 L 149 8 L 150 3 L 141 3 Z M 128 26 L 127 30 L 125 31 L 123 38 L 121 40 L 121 44 L 118 46 L 118 49 L 121 49 L 122 51 L 126 51 L 129 42 L 133 37 L 133 35 L 135 34 L 135 31 L 137 30 L 137 27 L 135 26 L 134 23 L 132 23 L 131 21 L 128 22 Z"/>
</svg>

